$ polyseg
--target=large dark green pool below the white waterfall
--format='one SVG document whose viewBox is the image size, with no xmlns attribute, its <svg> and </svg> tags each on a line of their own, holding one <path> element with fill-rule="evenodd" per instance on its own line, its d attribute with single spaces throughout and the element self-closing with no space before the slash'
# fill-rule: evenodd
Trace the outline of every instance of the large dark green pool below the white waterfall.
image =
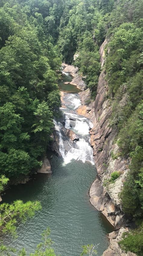
<svg viewBox="0 0 143 256">
<path fill-rule="evenodd" d="M 90 162 L 75 160 L 63 166 L 63 160 L 56 155 L 50 162 L 51 176 L 37 174 L 27 184 L 6 190 L 3 202 L 39 200 L 42 210 L 25 224 L 20 223 L 18 238 L 14 241 L 8 235 L 5 244 L 33 252 L 40 242 L 40 234 L 49 226 L 56 254 L 78 256 L 82 245 L 99 244 L 98 255 L 102 255 L 109 244 L 106 234 L 113 231 L 113 227 L 89 202 L 95 167 Z"/>
</svg>

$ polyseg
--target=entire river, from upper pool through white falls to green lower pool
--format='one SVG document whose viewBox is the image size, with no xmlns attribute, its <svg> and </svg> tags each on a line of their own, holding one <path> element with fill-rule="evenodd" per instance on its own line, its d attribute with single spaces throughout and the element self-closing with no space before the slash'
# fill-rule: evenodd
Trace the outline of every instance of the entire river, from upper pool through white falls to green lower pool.
<svg viewBox="0 0 143 256">
<path fill-rule="evenodd" d="M 79 89 L 68 84 L 63 89 L 64 82 L 72 80 L 70 74 L 64 73 L 62 80 L 59 86 L 67 92 L 62 106 L 65 128 L 75 131 L 78 139 L 71 142 L 64 135 L 62 124 L 54 121 L 62 157 L 49 152 L 52 175 L 34 175 L 27 184 L 11 186 L 3 196 L 3 202 L 8 203 L 17 199 L 24 202 L 39 200 L 42 210 L 25 224 L 19 223 L 18 238 L 13 240 L 8 235 L 5 244 L 18 249 L 25 247 L 28 253 L 33 252 L 41 240 L 40 234 L 49 226 L 57 255 L 78 256 L 82 245 L 99 244 L 97 251 L 100 256 L 109 245 L 106 234 L 112 232 L 113 227 L 89 202 L 89 189 L 96 177 L 93 152 L 89 145 L 92 123 L 76 114 L 76 108 L 81 104 Z"/>
</svg>

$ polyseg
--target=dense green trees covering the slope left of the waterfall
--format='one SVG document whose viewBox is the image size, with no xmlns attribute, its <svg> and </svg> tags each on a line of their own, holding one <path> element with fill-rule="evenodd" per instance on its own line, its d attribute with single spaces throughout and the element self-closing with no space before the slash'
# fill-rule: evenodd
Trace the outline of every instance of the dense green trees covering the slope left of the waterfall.
<svg viewBox="0 0 143 256">
<path fill-rule="evenodd" d="M 41 166 L 60 106 L 59 50 L 45 30 L 44 1 L 43 13 L 33 4 L 2 1 L 0 8 L 0 172 L 7 177 Z"/>
</svg>

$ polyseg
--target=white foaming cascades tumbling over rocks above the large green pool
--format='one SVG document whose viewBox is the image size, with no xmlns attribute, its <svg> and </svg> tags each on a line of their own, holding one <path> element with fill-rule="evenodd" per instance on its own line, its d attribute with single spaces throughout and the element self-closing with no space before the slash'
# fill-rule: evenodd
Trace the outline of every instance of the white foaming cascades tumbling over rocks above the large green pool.
<svg viewBox="0 0 143 256">
<path fill-rule="evenodd" d="M 69 74 L 64 72 L 66 76 Z M 68 85 L 67 85 L 68 86 Z M 89 161 L 94 165 L 93 150 L 90 146 L 89 130 L 93 127 L 91 120 L 84 118 L 76 113 L 76 109 L 81 105 L 79 94 L 64 93 L 63 97 L 64 107 L 61 108 L 65 116 L 64 127 L 72 130 L 78 135 L 78 139 L 69 143 L 67 151 L 67 141 L 64 134 L 63 125 L 54 120 L 55 130 L 59 136 L 59 152 L 64 160 L 63 165 L 71 162 L 72 159 L 81 160 L 82 162 Z"/>
</svg>

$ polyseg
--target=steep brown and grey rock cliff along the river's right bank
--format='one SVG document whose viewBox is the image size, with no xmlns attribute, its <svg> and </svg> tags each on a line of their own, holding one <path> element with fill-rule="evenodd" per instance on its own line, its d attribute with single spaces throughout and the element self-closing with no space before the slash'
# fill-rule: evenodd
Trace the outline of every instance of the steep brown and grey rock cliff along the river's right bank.
<svg viewBox="0 0 143 256">
<path fill-rule="evenodd" d="M 126 254 L 118 244 L 118 241 L 122 239 L 122 233 L 127 230 L 127 227 L 133 227 L 134 223 L 122 212 L 119 200 L 119 193 L 129 170 L 130 160 L 123 159 L 119 154 L 118 145 L 113 144 L 116 134 L 110 126 L 112 106 L 106 98 L 108 92 L 104 69 L 104 48 L 106 44 L 107 41 L 105 40 L 100 47 L 100 62 L 103 70 L 99 77 L 95 101 L 90 102 L 90 91 L 88 89 L 80 92 L 82 105 L 77 112 L 90 118 L 93 122 L 93 128 L 90 131 L 91 146 L 98 174 L 90 188 L 90 202 L 106 216 L 117 230 L 115 233 L 109 234 L 110 246 L 103 253 L 103 256 L 134 256 L 135 254 L 131 252 Z M 114 183 L 110 183 L 109 179 L 114 171 L 118 171 L 120 176 Z"/>
</svg>

